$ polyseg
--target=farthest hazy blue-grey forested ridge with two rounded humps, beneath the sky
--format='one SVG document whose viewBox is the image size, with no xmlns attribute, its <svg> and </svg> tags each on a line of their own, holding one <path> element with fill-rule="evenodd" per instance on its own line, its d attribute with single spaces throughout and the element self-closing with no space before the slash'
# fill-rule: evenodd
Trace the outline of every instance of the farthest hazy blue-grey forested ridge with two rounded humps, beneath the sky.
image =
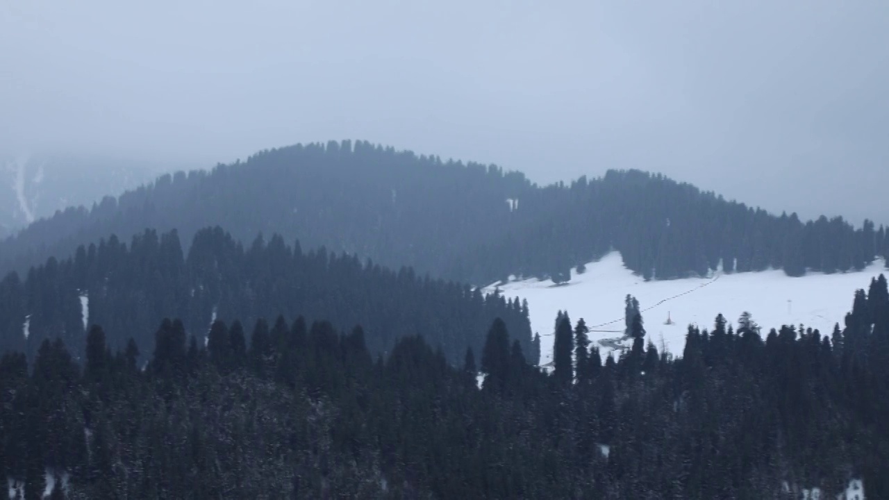
<svg viewBox="0 0 889 500">
<path fill-rule="evenodd" d="M 726 271 L 861 269 L 886 231 L 840 218 L 802 222 L 638 171 L 534 185 L 496 166 L 443 162 L 350 141 L 260 152 L 212 172 L 166 175 L 71 208 L 0 243 L 0 270 L 71 254 L 109 234 L 220 225 L 245 244 L 259 231 L 390 267 L 487 285 L 511 274 L 564 279 L 610 249 L 645 278 Z"/>
</svg>

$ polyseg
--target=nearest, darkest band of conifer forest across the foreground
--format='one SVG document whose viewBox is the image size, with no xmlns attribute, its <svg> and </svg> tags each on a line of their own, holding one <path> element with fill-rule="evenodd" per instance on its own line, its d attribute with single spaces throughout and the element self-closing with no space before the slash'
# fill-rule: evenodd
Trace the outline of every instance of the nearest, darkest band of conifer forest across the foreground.
<svg viewBox="0 0 889 500">
<path fill-rule="evenodd" d="M 216 321 L 205 349 L 167 319 L 140 370 L 93 327 L 84 363 L 49 339 L 30 371 L 0 359 L 0 477 L 28 499 L 47 472 L 69 499 L 889 497 L 884 278 L 830 337 L 720 316 L 671 359 L 631 324 L 603 364 L 560 314 L 552 375 L 499 319 L 459 368 L 416 336 L 374 361 L 361 328 L 300 318 L 250 341 Z"/>
</svg>

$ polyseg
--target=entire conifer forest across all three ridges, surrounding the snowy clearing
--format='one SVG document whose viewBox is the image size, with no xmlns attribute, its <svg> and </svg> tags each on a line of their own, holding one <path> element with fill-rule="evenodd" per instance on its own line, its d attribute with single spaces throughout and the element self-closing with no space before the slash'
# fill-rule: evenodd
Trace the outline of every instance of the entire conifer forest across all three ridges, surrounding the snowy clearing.
<svg viewBox="0 0 889 500">
<path fill-rule="evenodd" d="M 796 277 L 862 270 L 889 235 L 657 174 L 541 187 L 361 141 L 166 175 L 0 242 L 0 483 L 16 500 L 797 500 L 862 480 L 889 498 L 883 276 L 833 332 L 720 315 L 681 353 L 628 296 L 631 347 L 604 361 L 570 311 L 532 332 L 527 302 L 482 292 L 556 286 L 612 250 L 645 279 Z"/>
</svg>

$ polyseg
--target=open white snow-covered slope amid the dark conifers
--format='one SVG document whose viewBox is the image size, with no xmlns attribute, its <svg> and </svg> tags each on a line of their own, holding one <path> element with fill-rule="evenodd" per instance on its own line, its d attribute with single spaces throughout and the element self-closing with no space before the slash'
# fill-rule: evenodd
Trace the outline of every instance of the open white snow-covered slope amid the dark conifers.
<svg viewBox="0 0 889 500">
<path fill-rule="evenodd" d="M 500 286 L 505 296 L 528 300 L 532 330 L 541 335 L 541 365 L 552 360 L 558 310 L 567 310 L 573 323 L 584 319 L 593 330 L 589 335 L 593 342 L 613 339 L 623 335 L 627 294 L 639 300 L 648 338 L 659 349 L 663 343 L 676 355 L 685 347 L 689 324 L 712 328 L 719 313 L 736 325 L 747 310 L 763 327 L 763 335 L 772 327 L 800 324 L 829 334 L 834 324 L 843 325 L 855 290 L 867 289 L 870 278 L 883 272 L 885 262 L 874 262 L 861 272 L 811 273 L 802 278 L 767 270 L 648 282 L 625 268 L 617 252 L 586 267 L 581 275 L 573 271 L 565 285 L 526 279 Z M 672 325 L 664 324 L 668 317 Z"/>
</svg>

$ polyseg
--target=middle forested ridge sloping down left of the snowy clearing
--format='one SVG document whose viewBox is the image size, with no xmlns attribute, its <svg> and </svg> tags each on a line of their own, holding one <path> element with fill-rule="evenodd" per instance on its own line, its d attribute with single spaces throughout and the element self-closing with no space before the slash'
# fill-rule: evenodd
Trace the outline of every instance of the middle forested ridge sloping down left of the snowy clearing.
<svg viewBox="0 0 889 500">
<path fill-rule="evenodd" d="M 25 278 L 8 275 L 0 280 L 0 352 L 33 357 L 44 339 L 60 336 L 79 357 L 92 324 L 108 329 L 111 347 L 123 349 L 132 337 L 148 352 L 167 317 L 181 319 L 181 334 L 204 343 L 213 319 L 252 325 L 282 314 L 331 319 L 340 330 L 360 324 L 373 354 L 422 333 L 454 363 L 468 346 L 480 349 L 487 326 L 502 318 L 523 350 L 536 354 L 527 304 L 517 300 L 323 247 L 304 252 L 277 235 L 244 248 L 218 227 L 198 231 L 187 255 L 176 231 L 146 230 L 129 246 L 111 237 L 69 258 L 52 257 Z"/>
</svg>

